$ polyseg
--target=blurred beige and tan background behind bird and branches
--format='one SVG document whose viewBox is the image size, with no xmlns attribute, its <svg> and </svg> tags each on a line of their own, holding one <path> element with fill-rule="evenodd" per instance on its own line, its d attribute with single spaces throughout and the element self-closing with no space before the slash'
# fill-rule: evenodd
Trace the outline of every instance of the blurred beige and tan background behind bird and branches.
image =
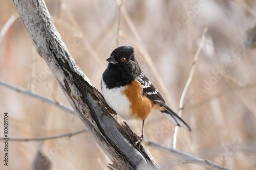
<svg viewBox="0 0 256 170">
<path fill-rule="evenodd" d="M 124 0 L 121 8 L 114 0 L 45 2 L 62 40 L 95 87 L 100 90 L 110 53 L 117 46 L 132 45 L 142 70 L 176 112 L 206 23 L 205 45 L 183 104 L 182 118 L 191 132 L 179 129 L 177 149 L 230 169 L 256 169 L 255 1 Z M 9 138 L 83 130 L 75 115 L 15 90 L 22 88 L 71 108 L 34 50 L 12 1 L 0 1 L 0 30 L 0 129 L 8 112 Z M 141 134 L 141 122 L 127 124 Z M 145 139 L 170 147 L 173 130 L 161 112 L 153 111 L 145 122 Z M 3 147 L 2 141 L 1 157 Z M 161 169 L 207 169 L 146 148 Z M 9 141 L 8 153 L 8 167 L 1 161 L 0 169 L 108 169 L 111 163 L 86 132 Z"/>
</svg>

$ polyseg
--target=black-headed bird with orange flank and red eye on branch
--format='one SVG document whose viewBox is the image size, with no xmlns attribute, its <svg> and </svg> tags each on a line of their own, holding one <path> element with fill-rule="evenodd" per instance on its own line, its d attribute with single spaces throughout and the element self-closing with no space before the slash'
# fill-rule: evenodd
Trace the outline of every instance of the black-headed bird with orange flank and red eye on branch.
<svg viewBox="0 0 256 170">
<path fill-rule="evenodd" d="M 103 98 L 124 120 L 142 120 L 142 135 L 135 145 L 144 139 L 144 122 L 152 109 L 161 111 L 175 126 L 190 131 L 141 70 L 132 46 L 117 47 L 106 61 L 109 64 L 100 83 Z"/>
</svg>

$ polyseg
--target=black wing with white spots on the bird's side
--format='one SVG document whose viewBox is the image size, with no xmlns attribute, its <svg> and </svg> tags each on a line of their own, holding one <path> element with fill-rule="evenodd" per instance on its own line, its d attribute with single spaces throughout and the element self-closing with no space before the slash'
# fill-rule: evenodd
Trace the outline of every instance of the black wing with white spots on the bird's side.
<svg viewBox="0 0 256 170">
<path fill-rule="evenodd" d="M 165 101 L 161 94 L 157 91 L 155 86 L 151 83 L 150 80 L 145 76 L 144 72 L 141 71 L 140 75 L 136 78 L 142 85 L 143 94 L 150 98 L 151 100 L 158 102 L 160 104 L 165 104 Z"/>
</svg>

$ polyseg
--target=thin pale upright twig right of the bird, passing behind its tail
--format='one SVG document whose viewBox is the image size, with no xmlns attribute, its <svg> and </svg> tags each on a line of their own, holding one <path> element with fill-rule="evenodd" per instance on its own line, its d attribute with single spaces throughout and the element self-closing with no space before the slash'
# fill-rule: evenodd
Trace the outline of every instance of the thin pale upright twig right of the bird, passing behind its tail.
<svg viewBox="0 0 256 170">
<path fill-rule="evenodd" d="M 185 95 L 187 93 L 187 89 L 189 87 L 189 84 L 191 83 L 191 80 L 192 80 L 192 77 L 194 75 L 194 71 L 195 71 L 195 68 L 196 68 L 196 62 L 198 60 L 198 57 L 203 49 L 203 46 L 204 46 L 204 43 L 205 43 L 205 37 L 206 37 L 206 33 L 208 31 L 208 26 L 205 25 L 204 27 L 204 31 L 203 31 L 203 35 L 202 35 L 202 38 L 201 38 L 201 42 L 199 44 L 199 47 L 197 49 L 197 52 L 195 54 L 195 57 L 194 57 L 194 60 L 193 60 L 193 63 L 191 65 L 191 69 L 190 69 L 190 72 L 189 72 L 189 76 L 188 76 L 188 79 L 187 79 L 187 82 L 185 84 L 185 87 L 182 91 L 182 94 L 181 94 L 181 98 L 180 98 L 180 105 L 179 105 L 179 116 L 182 115 L 182 111 L 183 111 L 183 102 L 184 102 L 184 99 L 185 99 Z M 172 147 L 174 149 L 176 149 L 176 142 L 177 142 L 177 133 L 178 133 L 178 126 L 176 126 L 174 128 L 174 133 L 173 133 L 173 145 Z"/>
</svg>

